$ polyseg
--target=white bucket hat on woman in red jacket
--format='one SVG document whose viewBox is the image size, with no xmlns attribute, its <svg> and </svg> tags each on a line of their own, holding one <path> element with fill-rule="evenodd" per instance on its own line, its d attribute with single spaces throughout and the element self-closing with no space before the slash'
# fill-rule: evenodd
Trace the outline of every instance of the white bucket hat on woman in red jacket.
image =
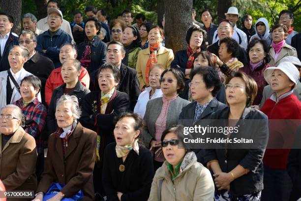
<svg viewBox="0 0 301 201">
<path fill-rule="evenodd" d="M 278 70 L 281 70 L 282 72 L 284 72 L 289 77 L 289 79 L 295 83 L 294 89 L 297 88 L 297 84 L 300 79 L 300 73 L 299 73 L 299 70 L 297 69 L 297 67 L 295 67 L 290 62 L 282 62 L 278 65 L 278 67 L 268 67 L 264 71 L 264 77 L 265 77 L 265 80 L 268 82 L 268 84 L 270 84 L 271 74 L 273 73 L 273 71 L 275 69 L 278 69 Z"/>
</svg>

